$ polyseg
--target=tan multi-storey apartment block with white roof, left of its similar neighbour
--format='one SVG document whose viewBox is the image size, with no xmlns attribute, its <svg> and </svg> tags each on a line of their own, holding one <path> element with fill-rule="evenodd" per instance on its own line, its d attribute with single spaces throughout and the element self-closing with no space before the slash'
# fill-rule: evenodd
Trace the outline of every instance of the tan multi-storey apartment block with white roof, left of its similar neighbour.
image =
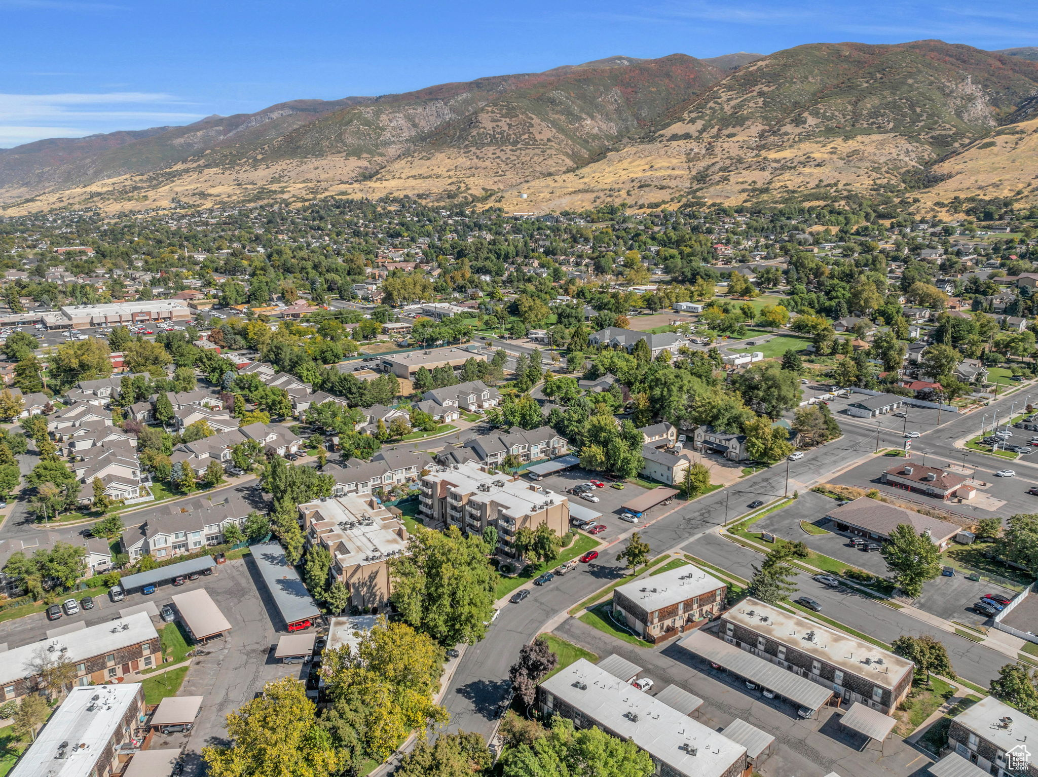
<svg viewBox="0 0 1038 777">
<path fill-rule="evenodd" d="M 407 529 L 373 496 L 350 494 L 299 505 L 306 539 L 331 554 L 330 575 L 350 589 L 361 610 L 389 603 L 389 567 L 407 553 Z"/>
</svg>

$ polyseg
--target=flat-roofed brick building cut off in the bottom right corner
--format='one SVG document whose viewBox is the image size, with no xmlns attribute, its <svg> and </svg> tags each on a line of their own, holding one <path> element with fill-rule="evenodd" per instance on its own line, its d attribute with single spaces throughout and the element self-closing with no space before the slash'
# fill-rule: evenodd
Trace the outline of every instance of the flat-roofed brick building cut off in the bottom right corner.
<svg viewBox="0 0 1038 777">
<path fill-rule="evenodd" d="M 1038 720 L 986 696 L 952 718 L 948 747 L 993 777 L 1038 775 Z M 1028 747 L 1030 745 L 1030 747 Z"/>
</svg>

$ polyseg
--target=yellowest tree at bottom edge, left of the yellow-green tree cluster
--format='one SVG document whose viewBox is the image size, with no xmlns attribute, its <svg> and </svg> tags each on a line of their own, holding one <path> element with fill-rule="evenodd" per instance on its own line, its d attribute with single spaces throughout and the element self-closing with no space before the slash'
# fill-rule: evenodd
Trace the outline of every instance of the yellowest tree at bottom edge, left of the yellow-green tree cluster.
<svg viewBox="0 0 1038 777">
<path fill-rule="evenodd" d="M 227 716 L 228 745 L 202 748 L 213 777 L 326 777 L 347 767 L 346 753 L 317 724 L 305 686 L 292 677 Z"/>
</svg>

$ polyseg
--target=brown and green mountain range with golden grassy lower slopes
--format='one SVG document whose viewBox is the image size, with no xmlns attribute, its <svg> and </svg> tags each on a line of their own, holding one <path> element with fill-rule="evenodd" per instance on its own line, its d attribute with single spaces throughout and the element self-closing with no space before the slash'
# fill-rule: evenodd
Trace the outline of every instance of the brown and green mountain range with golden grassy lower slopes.
<svg viewBox="0 0 1038 777">
<path fill-rule="evenodd" d="M 939 209 L 1038 195 L 1036 131 L 1035 48 L 919 40 L 612 56 L 0 149 L 0 213 L 326 194 L 532 212 L 886 193 Z"/>
</svg>

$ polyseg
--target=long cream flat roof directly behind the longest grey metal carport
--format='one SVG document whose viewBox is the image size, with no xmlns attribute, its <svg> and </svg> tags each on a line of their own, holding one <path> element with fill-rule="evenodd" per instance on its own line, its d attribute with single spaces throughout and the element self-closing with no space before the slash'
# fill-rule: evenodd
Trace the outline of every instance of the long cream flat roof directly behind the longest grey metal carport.
<svg viewBox="0 0 1038 777">
<path fill-rule="evenodd" d="M 871 683 L 887 690 L 893 690 L 914 666 L 912 662 L 881 647 L 753 598 L 744 599 L 721 618 L 740 623 L 845 672 L 868 677 Z M 812 633 L 814 639 L 809 639 Z"/>
</svg>

